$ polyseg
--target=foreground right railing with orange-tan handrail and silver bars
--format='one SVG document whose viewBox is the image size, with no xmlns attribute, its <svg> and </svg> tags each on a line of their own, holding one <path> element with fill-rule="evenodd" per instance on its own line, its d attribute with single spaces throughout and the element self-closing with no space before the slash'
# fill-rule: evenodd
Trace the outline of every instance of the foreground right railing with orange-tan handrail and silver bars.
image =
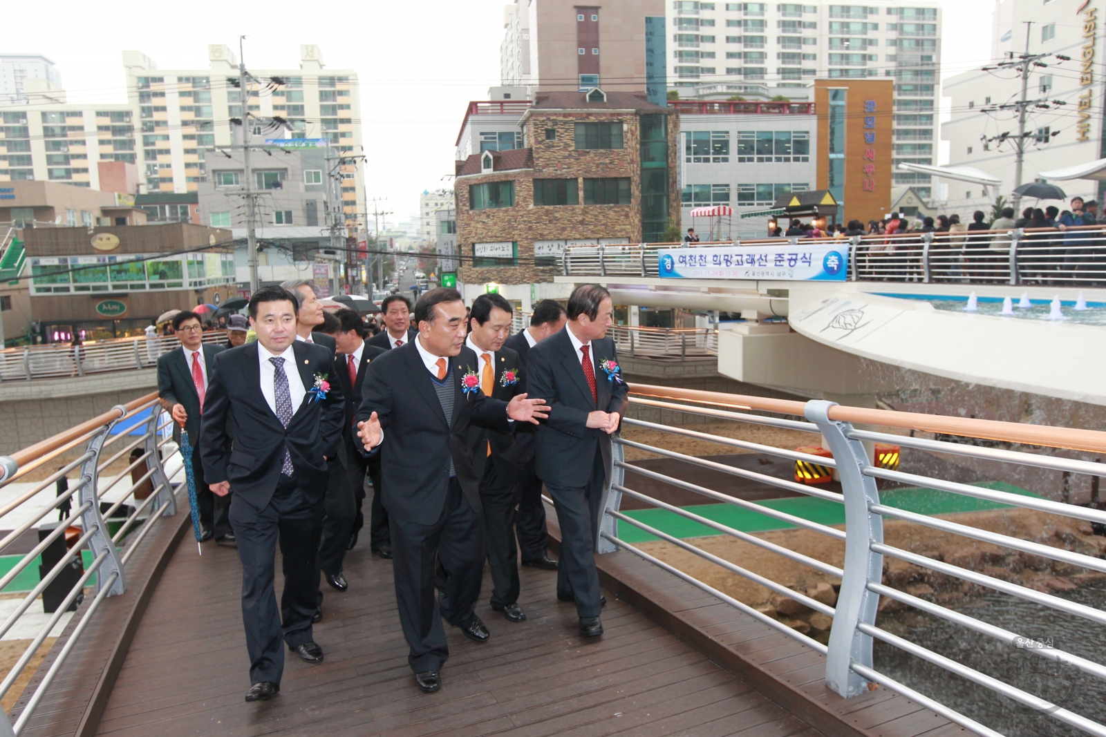
<svg viewBox="0 0 1106 737">
<path fill-rule="evenodd" d="M 1106 466 L 1099 463 L 1066 457 L 1078 455 L 1077 452 L 1106 452 L 1106 433 L 1088 430 L 1050 428 L 1042 425 L 1019 424 L 973 420 L 959 417 L 941 417 L 916 414 L 910 412 L 893 412 L 884 410 L 841 407 L 828 401 L 787 401 L 766 399 L 762 397 L 745 397 L 719 392 L 696 391 L 671 387 L 630 385 L 630 403 L 639 409 L 664 410 L 671 413 L 713 422 L 735 422 L 782 428 L 811 433 L 811 444 L 820 443 L 820 436 L 828 444 L 832 457 L 824 454 L 805 452 L 808 449 L 793 450 L 775 448 L 760 443 L 735 440 L 717 434 L 699 432 L 688 427 L 671 427 L 626 418 L 624 425 L 659 431 L 671 435 L 693 438 L 699 441 L 717 443 L 720 453 L 726 449 L 741 449 L 761 454 L 768 454 L 787 462 L 814 464 L 830 470 L 839 477 L 843 493 L 831 492 L 787 478 L 766 475 L 755 471 L 732 467 L 702 457 L 695 457 L 632 440 L 616 438 L 615 459 L 612 467 L 612 483 L 605 493 L 603 508 L 599 513 L 598 552 L 612 552 L 625 549 L 655 566 L 677 576 L 698 589 L 717 597 L 720 601 L 738 609 L 749 617 L 782 632 L 801 642 L 813 651 L 825 655 L 825 682 L 830 688 L 842 696 L 856 696 L 872 687 L 881 684 L 893 692 L 901 694 L 915 703 L 947 717 L 948 719 L 979 735 L 994 736 L 998 731 L 990 726 L 958 713 L 937 698 L 920 693 L 909 683 L 900 683 L 873 665 L 873 643 L 879 640 L 897 647 L 910 656 L 937 665 L 949 673 L 966 678 L 977 686 L 999 694 L 1018 707 L 1056 719 L 1091 735 L 1106 735 L 1106 726 L 1077 714 L 1064 703 L 1050 703 L 1040 694 L 1026 691 L 1025 683 L 1013 684 L 982 673 L 969 665 L 956 662 L 942 654 L 910 642 L 906 638 L 879 627 L 877 610 L 879 598 L 899 602 L 926 612 L 961 628 L 966 636 L 983 636 L 1006 643 L 1020 649 L 1029 657 L 1036 656 L 1043 664 L 1053 667 L 1073 668 L 1073 672 L 1084 674 L 1094 680 L 1106 681 L 1106 665 L 1085 657 L 1079 652 L 1071 652 L 1026 635 L 984 622 L 980 619 L 946 608 L 933 601 L 912 596 L 883 581 L 884 560 L 898 559 L 918 570 L 930 571 L 932 575 L 943 575 L 949 580 L 959 580 L 982 589 L 989 589 L 1005 597 L 1015 597 L 1047 608 L 1055 617 L 1074 618 L 1077 622 L 1106 624 L 1106 612 L 1075 600 L 1054 596 L 1047 591 L 1022 586 L 1018 582 L 995 577 L 999 571 L 985 566 L 964 567 L 953 562 L 942 561 L 918 555 L 895 546 L 886 545 L 883 535 L 884 519 L 905 520 L 921 528 L 939 530 L 963 538 L 966 544 L 987 543 L 1006 548 L 1012 554 L 1026 554 L 1045 561 L 1056 561 L 1060 565 L 1077 566 L 1088 571 L 1106 573 L 1106 560 L 1068 550 L 1063 547 L 1042 544 L 1035 540 L 1020 539 L 1008 535 L 981 529 L 945 517 L 930 516 L 888 506 L 880 502 L 880 493 L 876 480 L 897 482 L 907 486 L 922 486 L 948 492 L 953 495 L 984 499 L 1011 507 L 1033 509 L 1051 515 L 1060 515 L 1077 520 L 1087 520 L 1094 525 L 1106 525 L 1106 512 L 1088 506 L 1078 506 L 1056 502 L 1045 496 L 1025 496 L 997 491 L 983 486 L 959 483 L 957 481 L 930 477 L 926 475 L 904 473 L 894 465 L 879 463 L 873 457 L 873 443 L 890 443 L 915 453 L 940 454 L 943 457 L 963 459 L 968 462 L 999 462 L 1014 464 L 1033 470 L 1062 472 L 1066 477 L 1084 474 L 1091 476 L 1097 488 L 1097 480 L 1106 475 Z M 755 412 L 755 413 L 754 413 Z M 885 427 L 909 430 L 909 435 L 891 434 L 874 430 L 862 430 L 857 425 Z M 924 436 L 961 436 L 968 442 L 948 442 Z M 971 439 L 999 441 L 992 445 L 972 444 Z M 844 526 L 828 526 L 811 519 L 785 514 L 768 506 L 762 506 L 745 499 L 731 496 L 724 491 L 716 491 L 689 483 L 678 477 L 682 474 L 666 475 L 646 467 L 626 463 L 624 449 L 637 449 L 648 453 L 680 461 L 701 468 L 710 468 L 733 476 L 753 480 L 800 495 L 824 499 L 844 507 Z M 1065 454 L 1060 454 L 1062 451 Z M 1076 452 L 1076 453 L 1073 453 Z M 731 451 L 732 452 L 732 451 Z M 810 466 L 807 466 L 810 467 Z M 807 555 L 791 550 L 782 545 L 762 537 L 733 529 L 727 525 L 708 519 L 693 508 L 679 507 L 664 501 L 650 497 L 634 489 L 636 478 L 649 478 L 670 484 L 686 492 L 692 492 L 703 497 L 703 503 L 723 503 L 745 510 L 775 518 L 818 535 L 844 543 L 844 566 L 837 567 Z M 716 533 L 758 546 L 771 555 L 781 556 L 817 571 L 826 577 L 838 579 L 839 593 L 836 601 L 814 599 L 808 592 L 795 591 L 776 581 L 759 576 L 743 566 L 716 556 L 701 547 L 680 539 L 664 530 L 647 525 L 634 516 L 619 510 L 623 495 L 633 497 L 650 507 L 665 509 L 685 519 L 690 519 L 711 528 Z M 640 549 L 637 545 L 626 543 L 619 537 L 619 526 L 628 525 L 641 529 L 672 546 L 676 546 L 699 558 L 708 560 L 720 568 L 743 577 L 750 581 L 773 591 L 780 597 L 799 602 L 803 608 L 832 620 L 828 644 L 801 633 L 789 622 L 762 612 L 733 597 L 702 582 L 658 557 Z M 1051 539 L 1051 538 L 1050 538 Z M 748 564 L 747 564 L 748 565 Z M 830 621 L 827 620 L 827 621 Z M 1088 636 L 1093 636 L 1088 633 Z M 1081 676 L 1082 677 L 1082 676 Z M 1099 692 L 1100 693 L 1100 692 Z"/>
</svg>

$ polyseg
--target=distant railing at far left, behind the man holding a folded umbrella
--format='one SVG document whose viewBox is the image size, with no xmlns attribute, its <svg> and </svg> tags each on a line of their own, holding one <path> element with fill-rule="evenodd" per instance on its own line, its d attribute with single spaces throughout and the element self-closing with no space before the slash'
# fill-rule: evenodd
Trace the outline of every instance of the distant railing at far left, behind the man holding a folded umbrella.
<svg viewBox="0 0 1106 737">
<path fill-rule="evenodd" d="M 226 330 L 209 330 L 204 343 L 223 344 Z M 147 369 L 157 359 L 180 345 L 175 335 L 153 338 L 115 338 L 81 346 L 46 344 L 0 350 L 0 382 L 32 379 L 66 379 L 70 377 Z"/>
</svg>

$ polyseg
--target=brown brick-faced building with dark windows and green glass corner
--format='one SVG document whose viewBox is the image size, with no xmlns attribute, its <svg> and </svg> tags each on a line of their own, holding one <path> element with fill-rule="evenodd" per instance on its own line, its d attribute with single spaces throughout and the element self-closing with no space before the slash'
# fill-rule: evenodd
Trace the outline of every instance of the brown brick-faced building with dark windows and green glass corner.
<svg viewBox="0 0 1106 737">
<path fill-rule="evenodd" d="M 539 93 L 522 115 L 523 148 L 457 162 L 458 285 L 489 284 L 529 309 L 563 297 L 565 243 L 659 240 L 679 224 L 679 118 L 644 94 Z"/>
</svg>

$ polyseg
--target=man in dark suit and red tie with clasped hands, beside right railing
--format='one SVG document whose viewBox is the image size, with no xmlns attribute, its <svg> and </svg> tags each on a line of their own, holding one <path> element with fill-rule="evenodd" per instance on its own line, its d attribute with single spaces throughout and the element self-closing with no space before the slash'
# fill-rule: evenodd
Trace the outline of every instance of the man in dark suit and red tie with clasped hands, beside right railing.
<svg viewBox="0 0 1106 737">
<path fill-rule="evenodd" d="M 584 636 L 603 634 L 595 544 L 611 435 L 628 403 L 615 343 L 606 337 L 613 312 L 605 288 L 577 286 L 568 297 L 565 328 L 534 346 L 526 362 L 530 391 L 552 408 L 538 429 L 534 454 L 538 477 L 553 497 L 561 525 L 556 594 L 576 602 Z"/>
</svg>

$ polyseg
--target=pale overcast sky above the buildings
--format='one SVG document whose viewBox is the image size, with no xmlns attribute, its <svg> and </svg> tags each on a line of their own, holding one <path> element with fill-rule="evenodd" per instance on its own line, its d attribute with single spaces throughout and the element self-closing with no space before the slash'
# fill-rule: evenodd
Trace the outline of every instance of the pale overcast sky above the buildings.
<svg viewBox="0 0 1106 737">
<path fill-rule="evenodd" d="M 36 3 L 8 3 L 6 53 L 53 60 L 71 102 L 125 102 L 121 52 L 137 50 L 161 69 L 206 69 L 207 44 L 238 49 L 258 69 L 294 69 L 300 44 L 319 44 L 331 69 L 352 69 L 362 86 L 367 155 L 366 196 L 387 198 L 397 223 L 418 210 L 424 189 L 450 186 L 453 141 L 471 99 L 499 84 L 504 0 L 315 0 L 251 3 L 148 0 L 132 11 L 62 0 L 48 13 Z M 946 74 L 982 65 L 990 53 L 993 0 L 945 4 Z M 18 40 L 17 40 L 18 39 Z M 18 44 L 18 45 L 13 45 Z M 372 206 L 369 206 L 372 210 Z"/>
</svg>

